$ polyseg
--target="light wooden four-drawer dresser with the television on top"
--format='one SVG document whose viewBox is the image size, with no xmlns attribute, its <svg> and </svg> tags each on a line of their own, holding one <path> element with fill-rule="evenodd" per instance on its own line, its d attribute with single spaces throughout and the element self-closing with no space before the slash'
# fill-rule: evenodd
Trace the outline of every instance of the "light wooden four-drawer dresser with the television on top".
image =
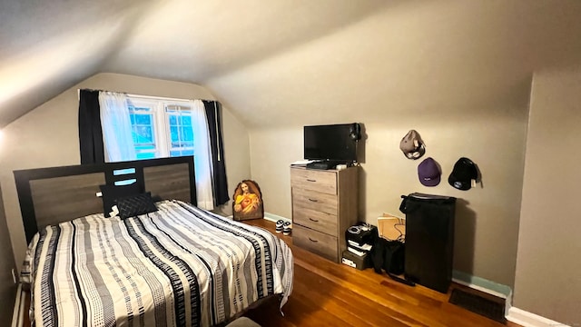
<svg viewBox="0 0 581 327">
<path fill-rule="evenodd" d="M 340 263 L 345 231 L 358 221 L 359 167 L 291 167 L 292 243 Z"/>
</svg>

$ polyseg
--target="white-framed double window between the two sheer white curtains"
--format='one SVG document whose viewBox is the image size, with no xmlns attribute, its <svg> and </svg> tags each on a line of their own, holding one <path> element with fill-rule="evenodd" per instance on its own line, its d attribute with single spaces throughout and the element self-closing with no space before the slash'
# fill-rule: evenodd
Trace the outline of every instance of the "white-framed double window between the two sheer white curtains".
<svg viewBox="0 0 581 327">
<path fill-rule="evenodd" d="M 193 155 L 192 107 L 186 101 L 128 96 L 137 159 Z"/>
</svg>

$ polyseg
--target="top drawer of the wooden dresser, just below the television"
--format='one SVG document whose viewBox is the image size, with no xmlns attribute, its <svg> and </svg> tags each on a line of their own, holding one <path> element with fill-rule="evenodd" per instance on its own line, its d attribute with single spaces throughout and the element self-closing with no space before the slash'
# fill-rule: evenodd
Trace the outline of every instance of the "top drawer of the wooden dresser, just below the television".
<svg viewBox="0 0 581 327">
<path fill-rule="evenodd" d="M 312 169 L 291 168 L 291 187 L 337 194 L 337 173 Z"/>
</svg>

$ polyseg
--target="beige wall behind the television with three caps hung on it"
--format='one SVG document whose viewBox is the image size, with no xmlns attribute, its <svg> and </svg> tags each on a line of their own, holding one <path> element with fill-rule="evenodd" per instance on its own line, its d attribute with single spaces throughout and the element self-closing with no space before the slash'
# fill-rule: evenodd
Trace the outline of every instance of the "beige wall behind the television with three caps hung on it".
<svg viewBox="0 0 581 327">
<path fill-rule="evenodd" d="M 482 114 L 445 113 L 414 116 L 381 114 L 365 124 L 365 163 L 360 180 L 359 219 L 377 223 L 381 213 L 399 212 L 400 195 L 413 192 L 445 194 L 458 198 L 454 269 L 513 286 L 527 133 L 525 101 L 504 104 Z M 313 113 L 312 119 L 320 117 Z M 325 124 L 352 123 L 336 117 Z M 305 118 L 305 124 L 310 124 Z M 311 119 L 311 122 L 312 122 Z M 318 121 L 317 123 L 320 123 Z M 399 150 L 399 141 L 416 129 L 427 152 L 412 161 Z M 265 210 L 291 218 L 290 166 L 302 159 L 302 125 L 251 131 L 252 179 L 261 185 Z M 442 168 L 436 187 L 419 183 L 417 167 L 433 157 Z M 467 156 L 478 164 L 483 183 L 469 191 L 448 184 L 454 163 Z"/>
</svg>

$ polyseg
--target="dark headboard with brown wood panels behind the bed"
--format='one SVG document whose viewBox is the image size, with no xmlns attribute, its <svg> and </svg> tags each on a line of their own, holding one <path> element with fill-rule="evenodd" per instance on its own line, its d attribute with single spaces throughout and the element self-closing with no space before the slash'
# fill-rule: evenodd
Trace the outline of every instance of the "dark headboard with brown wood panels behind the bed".
<svg viewBox="0 0 581 327">
<path fill-rule="evenodd" d="M 15 171 L 16 191 L 30 243 L 40 228 L 103 213 L 99 185 L 134 180 L 153 200 L 196 204 L 193 157 L 80 164 Z"/>
</svg>

